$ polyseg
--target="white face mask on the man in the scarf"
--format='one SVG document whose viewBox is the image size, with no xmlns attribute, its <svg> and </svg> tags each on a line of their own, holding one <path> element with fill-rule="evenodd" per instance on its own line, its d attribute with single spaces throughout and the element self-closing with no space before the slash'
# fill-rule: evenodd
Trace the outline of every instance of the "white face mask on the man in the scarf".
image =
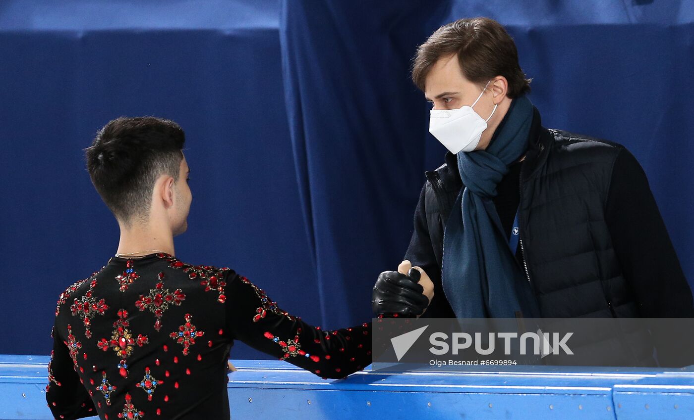
<svg viewBox="0 0 694 420">
<path fill-rule="evenodd" d="M 489 80 L 491 82 L 491 80 Z M 486 87 L 482 89 L 480 96 L 477 96 L 473 105 L 464 105 L 457 110 L 431 110 L 429 120 L 429 132 L 434 134 L 438 141 L 441 141 L 443 146 L 446 146 L 453 155 L 458 152 L 472 152 L 480 144 L 482 132 L 486 130 L 486 122 L 491 119 L 491 116 L 496 111 L 497 105 L 488 119 L 483 119 L 480 114 L 477 114 L 473 107 L 477 103 Z"/>
</svg>

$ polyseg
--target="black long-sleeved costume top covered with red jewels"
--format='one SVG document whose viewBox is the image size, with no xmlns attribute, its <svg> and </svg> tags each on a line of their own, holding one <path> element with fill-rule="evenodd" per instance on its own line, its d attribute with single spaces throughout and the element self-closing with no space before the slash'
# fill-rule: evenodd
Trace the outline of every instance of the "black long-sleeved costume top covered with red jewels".
<svg viewBox="0 0 694 420">
<path fill-rule="evenodd" d="M 56 306 L 46 401 L 56 419 L 229 419 L 233 340 L 326 378 L 371 363 L 371 324 L 321 331 L 230 268 L 112 257 Z"/>
</svg>

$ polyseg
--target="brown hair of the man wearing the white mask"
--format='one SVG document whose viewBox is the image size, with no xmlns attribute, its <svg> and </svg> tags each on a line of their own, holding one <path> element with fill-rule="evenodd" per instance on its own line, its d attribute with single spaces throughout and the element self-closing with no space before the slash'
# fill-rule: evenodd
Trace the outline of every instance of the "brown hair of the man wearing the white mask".
<svg viewBox="0 0 694 420">
<path fill-rule="evenodd" d="M 458 19 L 441 26 L 414 56 L 412 81 L 425 90 L 432 66 L 443 57 L 456 54 L 465 78 L 484 85 L 496 76 L 509 83 L 507 96 L 518 98 L 530 91 L 530 79 L 518 64 L 518 51 L 511 36 L 498 21 L 488 17 Z"/>
</svg>

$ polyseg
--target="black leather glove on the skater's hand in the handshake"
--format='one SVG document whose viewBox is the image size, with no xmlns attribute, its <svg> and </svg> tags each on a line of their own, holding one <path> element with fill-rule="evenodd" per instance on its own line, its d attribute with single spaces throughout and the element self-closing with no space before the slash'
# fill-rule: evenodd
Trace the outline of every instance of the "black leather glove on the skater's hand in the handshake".
<svg viewBox="0 0 694 420">
<path fill-rule="evenodd" d="M 407 275 L 397 271 L 384 271 L 378 275 L 371 295 L 371 310 L 384 316 L 416 317 L 429 306 L 429 298 L 417 281 L 420 272 L 414 268 Z M 396 315 L 397 314 L 397 315 Z"/>
</svg>

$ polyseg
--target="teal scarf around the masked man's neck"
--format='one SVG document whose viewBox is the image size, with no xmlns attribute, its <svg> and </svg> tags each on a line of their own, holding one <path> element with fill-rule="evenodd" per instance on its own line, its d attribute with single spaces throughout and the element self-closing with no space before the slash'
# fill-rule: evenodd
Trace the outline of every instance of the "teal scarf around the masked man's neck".
<svg viewBox="0 0 694 420">
<path fill-rule="evenodd" d="M 457 155 L 466 188 L 444 231 L 441 281 L 459 318 L 540 316 L 492 202 L 509 165 L 527 150 L 533 112 L 528 98 L 514 99 L 486 150 Z"/>
</svg>

